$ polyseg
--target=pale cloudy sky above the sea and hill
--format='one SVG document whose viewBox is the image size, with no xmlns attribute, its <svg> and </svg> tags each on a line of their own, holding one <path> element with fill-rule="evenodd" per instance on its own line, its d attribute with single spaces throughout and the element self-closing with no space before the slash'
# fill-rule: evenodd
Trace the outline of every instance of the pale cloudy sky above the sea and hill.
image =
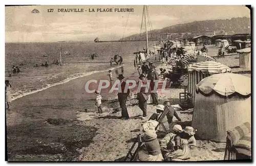
<svg viewBox="0 0 256 166">
<path fill-rule="evenodd" d="M 57 12 L 77 8 L 82 13 Z M 134 12 L 89 12 L 89 9 L 133 8 Z M 37 9 L 39 13 L 31 13 Z M 47 9 L 54 9 L 48 12 Z M 119 40 L 140 33 L 143 6 L 16 6 L 5 7 L 6 42 Z M 152 28 L 207 19 L 250 17 L 244 6 L 148 6 Z M 125 26 L 126 25 L 126 26 Z"/>
</svg>

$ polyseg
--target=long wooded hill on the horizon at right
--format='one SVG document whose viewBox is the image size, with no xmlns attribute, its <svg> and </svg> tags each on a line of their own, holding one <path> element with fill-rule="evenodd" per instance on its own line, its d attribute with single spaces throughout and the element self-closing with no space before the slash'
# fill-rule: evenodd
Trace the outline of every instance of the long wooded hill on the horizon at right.
<svg viewBox="0 0 256 166">
<path fill-rule="evenodd" d="M 171 38 L 175 37 L 188 37 L 196 36 L 202 32 L 216 31 L 218 34 L 237 34 L 237 33 L 250 33 L 251 21 L 248 17 L 239 17 L 231 19 L 216 19 L 216 20 L 204 20 L 194 21 L 189 23 L 177 24 L 170 27 L 165 27 L 159 30 L 153 30 L 148 32 L 149 39 L 159 39 L 162 35 L 163 38 L 167 34 L 171 34 Z M 175 34 L 177 33 L 177 34 Z M 185 34 L 184 34 L 185 33 Z M 123 40 L 139 40 L 144 39 L 145 33 L 139 35 L 135 34 L 123 38 Z"/>
</svg>

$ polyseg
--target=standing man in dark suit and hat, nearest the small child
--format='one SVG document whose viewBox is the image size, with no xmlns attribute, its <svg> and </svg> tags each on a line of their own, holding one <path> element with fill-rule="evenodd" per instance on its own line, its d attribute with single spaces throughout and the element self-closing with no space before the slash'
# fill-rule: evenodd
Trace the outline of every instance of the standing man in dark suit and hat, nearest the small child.
<svg viewBox="0 0 256 166">
<path fill-rule="evenodd" d="M 130 94 L 130 89 L 128 88 L 127 89 L 127 92 L 124 91 L 125 89 L 125 86 L 128 86 L 126 84 L 125 81 L 123 81 L 124 77 L 122 74 L 118 75 L 118 80 L 120 80 L 120 87 L 121 87 L 121 92 L 119 92 L 118 90 L 118 94 L 117 94 L 117 97 L 118 97 L 118 101 L 119 101 L 119 104 L 120 104 L 120 108 L 122 109 L 122 115 L 121 115 L 121 119 L 123 120 L 129 120 L 129 114 L 128 114 L 128 111 L 127 111 L 127 108 L 126 108 L 126 100 L 127 100 L 127 97 L 129 96 Z M 119 87 L 119 86 L 118 86 Z"/>
</svg>

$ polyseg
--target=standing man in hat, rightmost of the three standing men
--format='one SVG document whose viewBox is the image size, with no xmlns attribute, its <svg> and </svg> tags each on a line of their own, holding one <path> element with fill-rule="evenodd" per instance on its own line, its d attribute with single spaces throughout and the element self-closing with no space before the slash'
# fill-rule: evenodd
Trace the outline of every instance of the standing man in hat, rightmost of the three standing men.
<svg viewBox="0 0 256 166">
<path fill-rule="evenodd" d="M 157 95 L 157 89 L 154 89 L 155 87 L 155 82 L 154 80 L 159 80 L 159 76 L 158 76 L 158 73 L 157 71 L 155 70 L 156 66 L 152 65 L 150 67 L 150 72 L 148 72 L 148 75 L 147 75 L 147 79 L 148 80 L 151 80 L 150 82 L 150 89 L 151 89 L 151 98 L 152 98 L 152 103 L 154 105 L 158 105 L 158 95 Z"/>
</svg>

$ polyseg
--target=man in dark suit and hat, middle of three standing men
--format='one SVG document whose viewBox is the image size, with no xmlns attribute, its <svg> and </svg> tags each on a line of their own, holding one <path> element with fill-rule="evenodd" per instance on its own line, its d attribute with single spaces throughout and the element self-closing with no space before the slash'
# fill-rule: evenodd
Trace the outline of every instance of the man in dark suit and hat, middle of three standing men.
<svg viewBox="0 0 256 166">
<path fill-rule="evenodd" d="M 141 80 L 141 82 L 143 85 L 147 84 L 147 81 L 145 80 L 145 76 L 143 74 L 141 74 L 139 76 L 139 79 Z M 148 99 L 148 95 L 145 91 L 146 87 L 141 87 L 140 89 L 138 89 L 138 97 L 137 99 L 139 100 L 139 107 L 143 112 L 143 116 L 142 116 L 142 120 L 145 119 L 146 117 L 146 106 L 147 106 L 147 99 Z"/>
</svg>

